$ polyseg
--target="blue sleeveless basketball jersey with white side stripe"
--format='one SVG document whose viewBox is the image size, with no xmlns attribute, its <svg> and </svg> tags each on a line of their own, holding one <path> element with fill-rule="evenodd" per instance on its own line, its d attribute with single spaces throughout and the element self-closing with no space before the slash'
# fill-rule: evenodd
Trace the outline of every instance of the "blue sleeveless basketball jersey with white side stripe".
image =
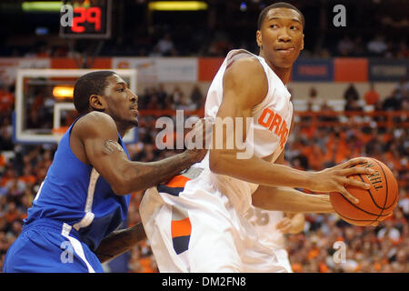
<svg viewBox="0 0 409 291">
<path fill-rule="evenodd" d="M 45 181 L 28 209 L 25 225 L 49 218 L 72 226 L 91 250 L 126 218 L 131 196 L 117 196 L 93 166 L 71 151 L 73 125 L 63 135 Z M 129 154 L 118 134 L 118 142 Z"/>
</svg>

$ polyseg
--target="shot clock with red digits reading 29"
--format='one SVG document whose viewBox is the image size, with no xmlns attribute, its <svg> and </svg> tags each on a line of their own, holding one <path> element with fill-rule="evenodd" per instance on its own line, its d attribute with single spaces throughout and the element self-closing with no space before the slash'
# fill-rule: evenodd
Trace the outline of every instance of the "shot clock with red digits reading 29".
<svg viewBox="0 0 409 291">
<path fill-rule="evenodd" d="M 109 38 L 112 0 L 62 1 L 72 14 L 70 25 L 60 26 L 60 36 L 68 38 Z M 62 13 L 63 16 L 63 13 Z"/>
</svg>

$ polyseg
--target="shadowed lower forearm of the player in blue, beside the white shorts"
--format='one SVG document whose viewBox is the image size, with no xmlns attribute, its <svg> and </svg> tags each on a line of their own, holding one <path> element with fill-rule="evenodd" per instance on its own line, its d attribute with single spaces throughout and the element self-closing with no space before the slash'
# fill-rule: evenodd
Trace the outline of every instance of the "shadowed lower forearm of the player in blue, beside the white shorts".
<svg viewBox="0 0 409 291">
<path fill-rule="evenodd" d="M 115 231 L 102 240 L 101 244 L 95 250 L 95 255 L 101 263 L 105 263 L 116 256 L 126 253 L 145 238 L 145 230 L 142 224 Z"/>
</svg>

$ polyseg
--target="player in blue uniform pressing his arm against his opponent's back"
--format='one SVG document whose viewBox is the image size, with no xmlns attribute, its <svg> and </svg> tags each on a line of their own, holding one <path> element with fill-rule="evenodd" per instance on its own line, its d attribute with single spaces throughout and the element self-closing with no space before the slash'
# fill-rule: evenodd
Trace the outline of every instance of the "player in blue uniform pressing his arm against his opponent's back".
<svg viewBox="0 0 409 291">
<path fill-rule="evenodd" d="M 115 231 L 127 216 L 128 194 L 165 182 L 206 150 L 131 161 L 122 137 L 138 125 L 137 98 L 111 71 L 76 81 L 80 117 L 58 145 L 24 229 L 5 256 L 5 272 L 103 272 L 101 262 L 145 238 L 142 225 Z"/>
</svg>

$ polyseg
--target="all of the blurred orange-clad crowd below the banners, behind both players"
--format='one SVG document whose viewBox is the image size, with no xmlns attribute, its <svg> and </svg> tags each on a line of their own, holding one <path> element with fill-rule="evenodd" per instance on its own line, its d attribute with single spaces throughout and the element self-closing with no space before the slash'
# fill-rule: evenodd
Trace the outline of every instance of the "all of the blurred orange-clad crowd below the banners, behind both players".
<svg viewBox="0 0 409 291">
<path fill-rule="evenodd" d="M 11 116 L 14 94 L 10 90 L 2 88 L 0 92 L 0 269 L 7 248 L 22 230 L 26 210 L 31 206 L 39 185 L 45 178 L 56 149 L 56 146 L 50 145 L 27 146 L 13 143 Z M 407 82 L 396 86 L 392 94 L 394 97 L 376 96 L 374 87 L 371 90 L 374 92 L 370 95 L 375 95 L 374 97 L 359 95 L 354 87 L 348 88 L 345 100 L 364 100 L 364 103 L 371 105 L 379 103 L 380 107 L 374 110 L 383 111 L 401 110 L 404 106 L 406 114 L 399 116 L 399 120 L 407 124 Z M 399 105 L 394 106 L 390 98 L 396 99 Z M 45 100 L 46 98 L 38 101 L 39 111 L 47 106 Z M 186 96 L 177 86 L 172 92 L 166 92 L 163 86 L 158 85 L 147 88 L 139 100 L 140 109 L 196 110 L 203 107 L 204 94 L 198 87 Z M 348 110 L 346 107 L 344 109 Z M 127 146 L 131 158 L 149 162 L 174 155 L 175 150 L 156 148 L 156 117 L 144 115 L 143 112 L 141 110 L 138 142 Z M 285 158 L 288 165 L 304 170 L 320 170 L 354 156 L 372 156 L 389 166 L 398 179 L 399 204 L 394 210 L 394 216 L 379 226 L 350 226 L 334 214 L 306 215 L 304 231 L 287 236 L 286 246 L 294 272 L 409 272 L 409 127 L 399 123 L 392 127 L 378 127 L 376 122 L 379 120 L 375 117 L 372 126 L 347 126 L 343 123 L 310 126 L 308 118 L 295 124 L 286 146 Z M 141 221 L 138 213 L 141 198 L 142 193 L 133 194 L 128 226 Z M 343 241 L 345 244 L 344 263 L 334 263 L 335 241 Z M 120 269 L 121 271 L 158 271 L 147 240 L 126 254 L 124 262 L 125 268 Z M 106 266 L 105 270 L 115 272 L 119 269 Z"/>
</svg>

